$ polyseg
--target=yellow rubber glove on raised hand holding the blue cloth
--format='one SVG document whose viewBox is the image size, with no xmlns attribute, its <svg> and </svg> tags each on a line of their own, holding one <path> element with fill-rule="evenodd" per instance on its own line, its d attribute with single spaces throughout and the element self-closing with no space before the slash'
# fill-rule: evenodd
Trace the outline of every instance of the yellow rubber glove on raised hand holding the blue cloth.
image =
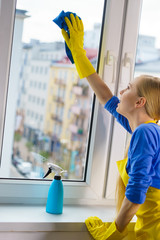
<svg viewBox="0 0 160 240">
<path fill-rule="evenodd" d="M 70 20 L 65 17 L 65 22 L 68 26 L 70 37 L 68 33 L 62 29 L 62 35 L 71 50 L 73 60 L 80 78 L 88 77 L 95 73 L 95 69 L 86 56 L 86 51 L 83 49 L 84 28 L 83 22 L 78 16 L 74 17 L 70 14 Z"/>
</svg>

